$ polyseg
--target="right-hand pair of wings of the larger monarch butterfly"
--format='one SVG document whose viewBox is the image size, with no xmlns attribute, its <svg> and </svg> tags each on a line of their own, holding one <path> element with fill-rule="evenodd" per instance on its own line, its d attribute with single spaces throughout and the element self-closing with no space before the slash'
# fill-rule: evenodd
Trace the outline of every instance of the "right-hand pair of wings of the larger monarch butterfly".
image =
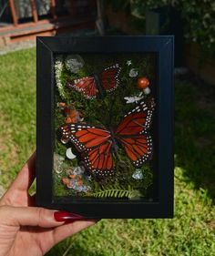
<svg viewBox="0 0 215 256">
<path fill-rule="evenodd" d="M 144 101 L 128 112 L 115 131 L 119 144 L 135 167 L 141 167 L 152 156 L 152 138 L 148 135 L 154 101 Z"/>
</svg>

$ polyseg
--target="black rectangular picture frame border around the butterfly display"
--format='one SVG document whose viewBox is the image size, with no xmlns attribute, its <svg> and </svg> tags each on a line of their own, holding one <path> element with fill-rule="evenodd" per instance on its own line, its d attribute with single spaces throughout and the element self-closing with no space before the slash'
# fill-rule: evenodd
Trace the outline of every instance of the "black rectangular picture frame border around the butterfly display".
<svg viewBox="0 0 215 256">
<path fill-rule="evenodd" d="M 154 201 L 57 200 L 52 192 L 54 57 L 64 53 L 155 53 L 157 55 L 156 184 Z M 174 36 L 37 36 L 36 205 L 98 218 L 173 218 Z"/>
</svg>

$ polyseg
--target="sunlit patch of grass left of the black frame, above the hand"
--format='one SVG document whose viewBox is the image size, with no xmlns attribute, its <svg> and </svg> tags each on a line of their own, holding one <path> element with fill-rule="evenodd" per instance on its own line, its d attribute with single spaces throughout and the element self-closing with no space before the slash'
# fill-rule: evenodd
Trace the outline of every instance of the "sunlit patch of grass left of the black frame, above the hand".
<svg viewBox="0 0 215 256">
<path fill-rule="evenodd" d="M 36 50 L 0 56 L 0 164 L 9 182 L 36 148 Z"/>
</svg>

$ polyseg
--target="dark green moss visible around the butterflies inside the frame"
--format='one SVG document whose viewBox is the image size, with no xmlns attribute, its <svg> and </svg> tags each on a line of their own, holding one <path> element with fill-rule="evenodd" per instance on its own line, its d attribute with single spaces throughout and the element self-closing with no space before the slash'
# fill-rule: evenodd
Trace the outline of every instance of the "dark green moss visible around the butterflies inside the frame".
<svg viewBox="0 0 215 256">
<path fill-rule="evenodd" d="M 66 103 L 71 109 L 76 109 L 79 111 L 83 117 L 84 122 L 93 125 L 107 128 L 109 130 L 115 130 L 120 122 L 123 119 L 123 116 L 128 113 L 131 109 L 135 108 L 136 103 L 125 104 L 126 101 L 124 97 L 138 96 L 141 92 L 137 86 L 137 77 L 129 77 L 129 71 L 131 68 L 135 68 L 138 71 L 138 77 L 148 77 L 151 82 L 152 92 L 154 91 L 155 83 L 155 56 L 152 54 L 109 54 L 106 56 L 101 56 L 97 54 L 85 54 L 82 55 L 85 65 L 79 69 L 78 73 L 72 73 L 69 71 L 64 63 L 66 56 L 56 56 L 56 58 L 61 59 L 60 63 L 60 73 L 58 74 L 59 81 L 61 83 L 58 86 L 58 91 L 56 89 L 56 114 L 55 114 L 55 127 L 56 127 L 56 141 L 55 141 L 55 151 L 57 154 L 65 157 L 67 148 L 73 148 L 73 151 L 76 151 L 76 148 L 68 143 L 66 146 L 60 143 L 60 132 L 59 128 L 64 125 L 65 117 L 64 110 L 58 107 L 59 102 Z M 128 66 L 127 61 L 131 60 L 132 64 Z M 117 64 L 121 67 L 119 73 L 119 86 L 116 90 L 111 93 L 107 93 L 106 97 L 95 99 L 87 99 L 83 96 L 81 92 L 67 87 L 67 83 L 71 82 L 73 79 L 80 77 L 87 77 L 92 74 L 99 74 L 106 67 L 113 66 Z M 56 70 L 57 71 L 57 70 Z M 56 79 L 56 86 L 57 86 Z M 57 87 L 56 87 L 57 88 Z M 79 160 L 82 160 L 81 157 L 78 157 L 77 165 Z M 149 165 L 143 166 L 141 169 L 144 173 L 144 178 L 141 180 L 136 180 L 132 178 L 132 173 L 135 171 L 135 167 L 131 164 L 128 156 L 124 149 L 118 148 L 117 154 L 114 154 L 115 160 L 115 175 L 107 177 L 105 179 L 100 179 L 93 177 L 90 182 L 90 186 L 93 189 L 90 193 L 87 193 L 85 196 L 95 196 L 106 197 L 106 193 L 102 191 L 108 190 L 111 188 L 128 188 L 129 192 L 133 190 L 138 190 L 138 193 L 141 197 L 146 197 L 148 187 L 153 185 L 153 170 L 151 169 L 152 163 Z M 72 163 L 71 163 L 72 166 Z M 62 179 L 59 177 L 56 179 Z M 62 182 L 57 181 L 55 190 L 56 195 L 63 195 L 62 187 L 65 186 Z M 72 190 L 72 189 L 71 189 Z M 59 191 L 59 193 L 58 193 Z M 74 191 L 73 191 L 74 192 Z M 65 190 L 65 195 L 67 195 L 67 189 Z M 112 193 L 108 194 L 108 197 Z M 122 194 L 118 192 L 114 193 L 115 197 L 121 197 Z M 124 193 L 124 197 L 130 198 L 129 193 Z"/>
</svg>

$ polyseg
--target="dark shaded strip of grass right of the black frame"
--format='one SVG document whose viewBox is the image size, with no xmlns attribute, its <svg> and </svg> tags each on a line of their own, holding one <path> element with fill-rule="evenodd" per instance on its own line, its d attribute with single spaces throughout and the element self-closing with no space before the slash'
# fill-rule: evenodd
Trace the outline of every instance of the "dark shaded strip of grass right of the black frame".
<svg viewBox="0 0 215 256">
<path fill-rule="evenodd" d="M 215 201 L 215 87 L 194 77 L 176 80 L 175 166 L 184 169 L 194 189 Z"/>
</svg>

